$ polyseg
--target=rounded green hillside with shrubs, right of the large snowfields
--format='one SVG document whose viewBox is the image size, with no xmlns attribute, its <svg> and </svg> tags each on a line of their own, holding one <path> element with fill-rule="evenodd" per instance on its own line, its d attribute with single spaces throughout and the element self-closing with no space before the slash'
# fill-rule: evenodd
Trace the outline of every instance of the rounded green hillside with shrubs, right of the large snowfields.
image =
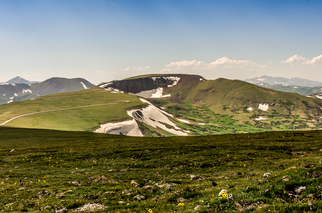
<svg viewBox="0 0 322 213">
<path fill-rule="evenodd" d="M 312 122 L 320 120 L 318 116 L 321 116 L 322 100 L 317 98 L 227 79 L 186 84 L 169 92 L 176 94 L 183 104 L 174 104 L 171 98 L 153 99 L 152 102 L 184 116 L 182 119 L 192 119 L 191 123 L 209 124 L 210 131 L 201 131 L 204 133 L 321 128 L 319 122 Z M 259 103 L 273 106 L 262 111 L 257 107 Z M 248 107 L 253 111 L 246 110 Z M 259 116 L 268 120 L 256 121 Z"/>
</svg>

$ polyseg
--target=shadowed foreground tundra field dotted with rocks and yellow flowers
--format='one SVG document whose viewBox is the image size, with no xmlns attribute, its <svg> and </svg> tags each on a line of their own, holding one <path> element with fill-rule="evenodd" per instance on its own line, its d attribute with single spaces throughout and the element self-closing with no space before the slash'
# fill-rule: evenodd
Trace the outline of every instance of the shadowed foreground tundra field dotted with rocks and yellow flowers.
<svg viewBox="0 0 322 213">
<path fill-rule="evenodd" d="M 309 200 L 322 212 L 321 131 L 142 138 L 1 127 L 0 141 L 3 212 L 308 212 Z"/>
</svg>

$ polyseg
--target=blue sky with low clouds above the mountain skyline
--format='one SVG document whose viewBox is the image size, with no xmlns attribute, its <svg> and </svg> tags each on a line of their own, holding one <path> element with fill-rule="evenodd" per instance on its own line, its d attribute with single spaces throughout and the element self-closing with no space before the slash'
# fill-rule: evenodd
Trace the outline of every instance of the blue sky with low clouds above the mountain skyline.
<svg viewBox="0 0 322 213">
<path fill-rule="evenodd" d="M 0 1 L 0 81 L 148 73 L 322 81 L 322 1 Z"/>
</svg>

